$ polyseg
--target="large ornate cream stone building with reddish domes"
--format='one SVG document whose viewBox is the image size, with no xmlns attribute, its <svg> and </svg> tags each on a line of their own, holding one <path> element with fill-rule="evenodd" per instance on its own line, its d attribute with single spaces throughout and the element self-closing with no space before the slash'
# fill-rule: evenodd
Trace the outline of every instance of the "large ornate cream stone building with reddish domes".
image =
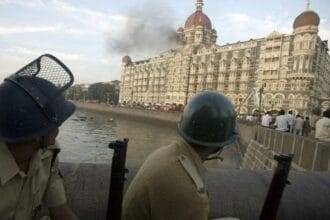
<svg viewBox="0 0 330 220">
<path fill-rule="evenodd" d="M 309 9 L 291 34 L 276 31 L 260 39 L 217 45 L 217 32 L 203 13 L 203 1 L 177 31 L 181 46 L 157 57 L 122 59 L 120 102 L 186 104 L 197 92 L 223 92 L 238 106 L 254 88 L 265 85 L 264 110 L 307 114 L 330 97 L 328 41 L 318 36 L 320 18 Z M 240 112 L 256 109 L 252 99 Z"/>
</svg>

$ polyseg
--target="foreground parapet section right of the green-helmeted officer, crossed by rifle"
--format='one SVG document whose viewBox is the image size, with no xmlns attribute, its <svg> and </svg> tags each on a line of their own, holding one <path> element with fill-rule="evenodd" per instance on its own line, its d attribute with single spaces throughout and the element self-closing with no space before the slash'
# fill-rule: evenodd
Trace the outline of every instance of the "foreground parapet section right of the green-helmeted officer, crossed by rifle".
<svg viewBox="0 0 330 220">
<path fill-rule="evenodd" d="M 208 173 L 211 218 L 259 219 L 271 171 L 213 169 Z M 330 173 L 290 171 L 277 219 L 330 219 Z"/>
</svg>

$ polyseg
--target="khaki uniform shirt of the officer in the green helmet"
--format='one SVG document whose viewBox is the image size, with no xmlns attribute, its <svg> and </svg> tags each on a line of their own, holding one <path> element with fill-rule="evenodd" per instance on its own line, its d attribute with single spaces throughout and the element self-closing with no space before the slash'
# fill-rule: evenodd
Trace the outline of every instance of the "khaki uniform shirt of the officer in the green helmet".
<svg viewBox="0 0 330 220">
<path fill-rule="evenodd" d="M 123 202 L 123 220 L 208 219 L 205 168 L 198 154 L 181 141 L 152 153 Z"/>
</svg>

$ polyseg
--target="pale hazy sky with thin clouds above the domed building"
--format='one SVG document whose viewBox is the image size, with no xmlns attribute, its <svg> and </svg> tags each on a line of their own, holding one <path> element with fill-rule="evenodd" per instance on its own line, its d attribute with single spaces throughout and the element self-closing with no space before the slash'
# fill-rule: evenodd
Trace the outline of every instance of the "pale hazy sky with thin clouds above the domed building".
<svg viewBox="0 0 330 220">
<path fill-rule="evenodd" d="M 306 7 L 306 0 L 204 3 L 220 45 L 264 37 L 273 30 L 291 33 L 294 18 Z M 120 79 L 121 57 L 129 54 L 138 60 L 166 49 L 158 43 L 164 38 L 162 30 L 184 25 L 194 4 L 195 0 L 0 0 L 0 80 L 43 53 L 67 64 L 76 83 Z M 330 1 L 311 0 L 311 8 L 321 17 L 321 38 L 330 39 Z M 137 28 L 143 32 L 136 33 Z"/>
</svg>

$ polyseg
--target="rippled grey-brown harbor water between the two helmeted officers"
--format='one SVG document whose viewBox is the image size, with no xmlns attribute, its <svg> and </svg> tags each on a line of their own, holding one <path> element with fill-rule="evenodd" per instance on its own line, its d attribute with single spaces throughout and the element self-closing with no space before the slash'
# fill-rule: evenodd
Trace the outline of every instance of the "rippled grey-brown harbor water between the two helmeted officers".
<svg viewBox="0 0 330 220">
<path fill-rule="evenodd" d="M 128 167 L 139 167 L 152 151 L 177 140 L 175 125 L 77 110 L 60 128 L 60 161 L 111 163 L 108 144 L 122 138 L 129 138 Z"/>
</svg>

